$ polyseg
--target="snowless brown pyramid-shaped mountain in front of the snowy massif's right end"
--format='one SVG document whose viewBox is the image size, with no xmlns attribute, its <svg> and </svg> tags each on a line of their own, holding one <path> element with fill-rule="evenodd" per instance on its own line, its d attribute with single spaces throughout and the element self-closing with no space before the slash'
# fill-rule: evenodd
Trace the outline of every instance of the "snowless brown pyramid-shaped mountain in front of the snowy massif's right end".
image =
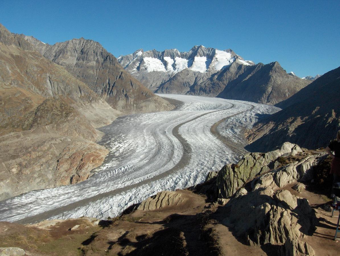
<svg viewBox="0 0 340 256">
<path fill-rule="evenodd" d="M 236 59 L 226 69 L 195 85 L 192 94 L 274 105 L 309 83 L 288 75 L 278 62 L 247 66 Z"/>
</svg>

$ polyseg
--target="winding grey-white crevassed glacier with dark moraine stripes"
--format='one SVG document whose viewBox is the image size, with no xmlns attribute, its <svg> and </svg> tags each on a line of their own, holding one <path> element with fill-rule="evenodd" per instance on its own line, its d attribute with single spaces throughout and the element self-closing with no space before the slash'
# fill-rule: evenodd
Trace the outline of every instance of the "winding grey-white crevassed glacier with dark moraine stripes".
<svg viewBox="0 0 340 256">
<path fill-rule="evenodd" d="M 256 115 L 278 110 L 220 98 L 160 96 L 183 104 L 169 112 L 119 117 L 100 128 L 105 133 L 100 144 L 109 149 L 109 154 L 94 175 L 75 185 L 31 191 L 2 201 L 0 221 L 42 214 L 41 219 L 114 217 L 159 191 L 198 184 L 209 171 L 218 171 L 241 156 L 211 133 L 213 124 L 225 119 L 217 131 L 242 147 L 242 129 L 250 128 Z"/>
</svg>

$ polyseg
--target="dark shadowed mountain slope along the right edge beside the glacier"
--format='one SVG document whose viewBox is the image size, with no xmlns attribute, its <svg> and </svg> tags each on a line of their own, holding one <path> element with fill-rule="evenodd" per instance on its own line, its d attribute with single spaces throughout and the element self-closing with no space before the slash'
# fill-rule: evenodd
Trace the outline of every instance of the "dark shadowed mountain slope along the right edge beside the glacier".
<svg viewBox="0 0 340 256">
<path fill-rule="evenodd" d="M 291 98 L 283 110 L 247 132 L 249 150 L 274 149 L 282 141 L 305 148 L 326 147 L 340 129 L 340 67 L 327 72 Z"/>
</svg>

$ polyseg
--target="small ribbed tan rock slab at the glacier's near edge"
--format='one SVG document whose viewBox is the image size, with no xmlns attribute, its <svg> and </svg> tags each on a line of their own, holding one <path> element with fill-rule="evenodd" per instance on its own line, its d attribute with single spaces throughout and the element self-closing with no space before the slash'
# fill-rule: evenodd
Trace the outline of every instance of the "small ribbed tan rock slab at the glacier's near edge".
<svg viewBox="0 0 340 256">
<path fill-rule="evenodd" d="M 162 191 L 144 200 L 138 206 L 138 210 L 151 211 L 161 209 L 166 206 L 176 206 L 188 200 L 184 192 L 180 191 Z"/>
</svg>

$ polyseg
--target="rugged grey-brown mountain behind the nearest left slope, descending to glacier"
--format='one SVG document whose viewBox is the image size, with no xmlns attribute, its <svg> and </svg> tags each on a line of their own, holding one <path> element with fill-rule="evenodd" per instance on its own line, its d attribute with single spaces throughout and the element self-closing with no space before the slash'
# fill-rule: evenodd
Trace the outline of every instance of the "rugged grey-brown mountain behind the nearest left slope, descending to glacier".
<svg viewBox="0 0 340 256">
<path fill-rule="evenodd" d="M 87 84 L 115 109 L 135 113 L 172 108 L 126 72 L 117 59 L 96 41 L 79 38 L 48 45 L 34 37 L 21 36 L 44 57 Z"/>
</svg>

